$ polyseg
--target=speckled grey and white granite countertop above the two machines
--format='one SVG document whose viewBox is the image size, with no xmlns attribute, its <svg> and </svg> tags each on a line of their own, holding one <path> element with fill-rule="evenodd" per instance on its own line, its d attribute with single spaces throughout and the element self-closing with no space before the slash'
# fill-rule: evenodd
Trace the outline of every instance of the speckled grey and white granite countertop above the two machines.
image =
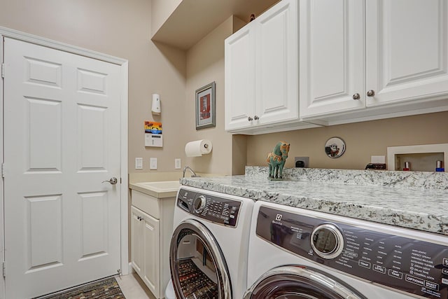
<svg viewBox="0 0 448 299">
<path fill-rule="evenodd" d="M 181 183 L 448 235 L 447 173 L 285 169 L 283 174 L 283 181 L 269 181 L 267 167 L 246 167 L 246 175 L 185 178 Z"/>
</svg>

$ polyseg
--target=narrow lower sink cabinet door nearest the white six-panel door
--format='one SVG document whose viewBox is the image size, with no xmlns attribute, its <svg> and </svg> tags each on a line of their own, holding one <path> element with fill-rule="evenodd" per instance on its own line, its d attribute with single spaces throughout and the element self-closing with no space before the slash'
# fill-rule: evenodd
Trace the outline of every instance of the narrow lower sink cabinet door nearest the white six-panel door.
<svg viewBox="0 0 448 299">
<path fill-rule="evenodd" d="M 131 263 L 137 274 L 144 267 L 143 213 L 131 207 Z"/>
</svg>

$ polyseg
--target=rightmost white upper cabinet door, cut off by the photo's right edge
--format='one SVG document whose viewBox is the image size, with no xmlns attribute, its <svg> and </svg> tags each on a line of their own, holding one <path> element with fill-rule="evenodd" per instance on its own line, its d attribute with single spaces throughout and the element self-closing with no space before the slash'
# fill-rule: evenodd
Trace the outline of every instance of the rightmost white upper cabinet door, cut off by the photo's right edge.
<svg viewBox="0 0 448 299">
<path fill-rule="evenodd" d="M 367 1 L 367 106 L 448 95 L 443 0 Z"/>
</svg>

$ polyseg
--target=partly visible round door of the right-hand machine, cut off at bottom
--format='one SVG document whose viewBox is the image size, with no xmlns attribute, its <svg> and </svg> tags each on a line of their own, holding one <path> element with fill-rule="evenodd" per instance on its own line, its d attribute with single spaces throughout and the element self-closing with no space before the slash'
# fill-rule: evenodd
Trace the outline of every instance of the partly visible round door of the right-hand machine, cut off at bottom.
<svg viewBox="0 0 448 299">
<path fill-rule="evenodd" d="M 366 299 L 342 281 L 302 266 L 283 266 L 262 275 L 244 299 Z"/>
</svg>

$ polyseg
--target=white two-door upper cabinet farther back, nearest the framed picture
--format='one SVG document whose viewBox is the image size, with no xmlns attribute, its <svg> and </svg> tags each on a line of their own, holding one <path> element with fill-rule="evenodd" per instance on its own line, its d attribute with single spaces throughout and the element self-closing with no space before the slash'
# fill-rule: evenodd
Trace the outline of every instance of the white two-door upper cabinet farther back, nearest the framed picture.
<svg viewBox="0 0 448 299">
<path fill-rule="evenodd" d="M 298 123 L 297 14 L 280 1 L 225 40 L 225 130 Z"/>
</svg>

